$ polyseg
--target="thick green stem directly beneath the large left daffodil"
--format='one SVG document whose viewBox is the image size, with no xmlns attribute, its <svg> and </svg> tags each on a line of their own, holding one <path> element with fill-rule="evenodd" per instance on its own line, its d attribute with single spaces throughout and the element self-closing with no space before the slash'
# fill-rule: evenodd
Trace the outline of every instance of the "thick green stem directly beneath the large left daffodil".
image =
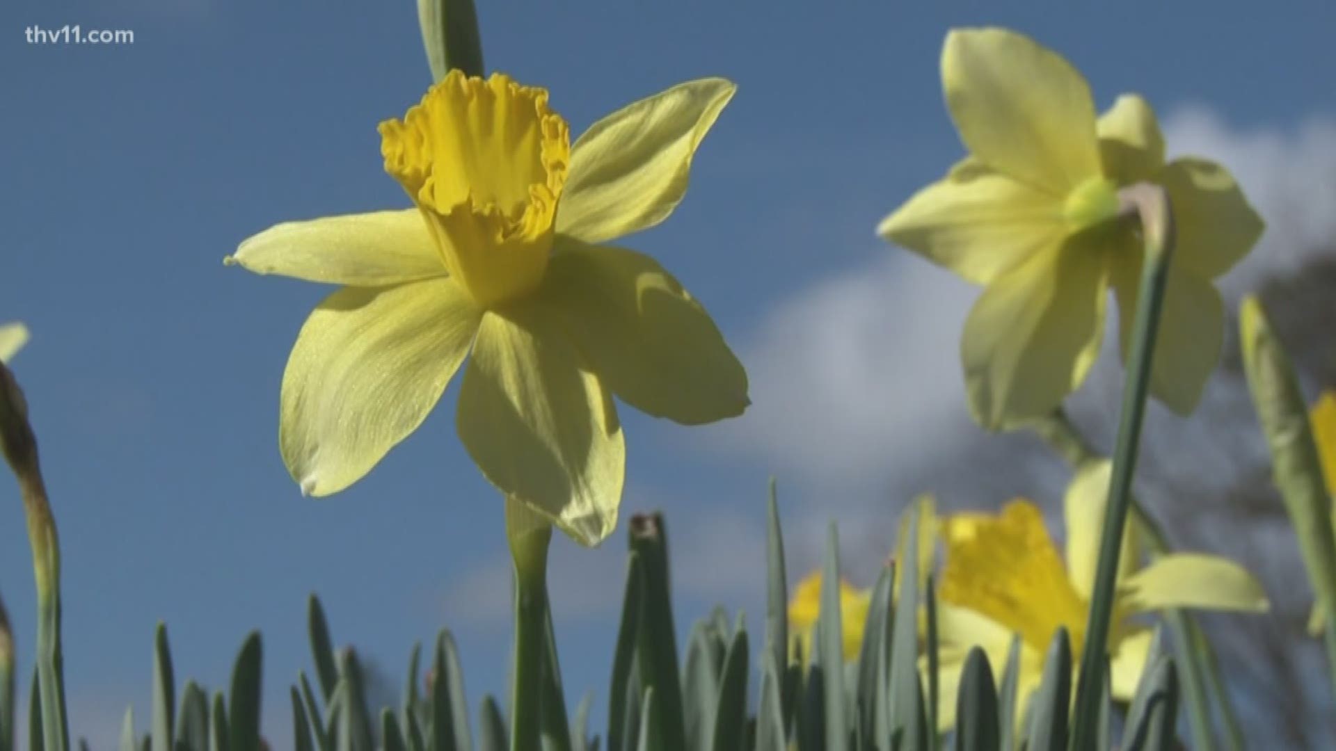
<svg viewBox="0 0 1336 751">
<path fill-rule="evenodd" d="M 540 748 L 544 640 L 548 636 L 548 544 L 552 524 L 505 500 L 506 537 L 514 560 L 514 683 L 510 687 L 510 751 Z"/>
</svg>

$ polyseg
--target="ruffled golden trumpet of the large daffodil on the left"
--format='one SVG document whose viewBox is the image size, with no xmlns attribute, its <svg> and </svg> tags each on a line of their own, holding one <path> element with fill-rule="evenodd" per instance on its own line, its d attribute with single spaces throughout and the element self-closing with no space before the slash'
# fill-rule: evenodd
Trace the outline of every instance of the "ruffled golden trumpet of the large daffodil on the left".
<svg viewBox="0 0 1336 751">
<path fill-rule="evenodd" d="M 537 289 L 570 162 L 569 128 L 546 90 L 456 69 L 379 131 L 385 171 L 469 295 L 493 306 Z"/>
</svg>

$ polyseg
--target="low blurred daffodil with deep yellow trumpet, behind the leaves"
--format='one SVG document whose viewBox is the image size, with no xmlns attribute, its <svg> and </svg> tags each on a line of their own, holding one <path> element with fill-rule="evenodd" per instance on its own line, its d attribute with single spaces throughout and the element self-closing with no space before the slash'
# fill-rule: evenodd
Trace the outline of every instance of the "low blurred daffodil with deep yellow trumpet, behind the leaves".
<svg viewBox="0 0 1336 751">
<path fill-rule="evenodd" d="M 1042 512 L 1017 500 L 997 516 L 949 517 L 943 525 L 938 633 L 941 637 L 942 722 L 954 722 L 955 692 L 970 647 L 989 656 L 995 675 L 1018 635 L 1018 699 L 1038 687 L 1043 656 L 1058 627 L 1071 636 L 1079 661 L 1098 561 L 1100 531 L 1110 464 L 1083 466 L 1065 498 L 1066 561 L 1049 537 Z M 1132 620 L 1161 608 L 1265 611 L 1261 585 L 1237 564 L 1216 556 L 1174 553 L 1140 567 L 1137 543 L 1125 539 L 1109 635 L 1113 695 L 1129 699 L 1141 676 L 1152 631 Z"/>
</svg>

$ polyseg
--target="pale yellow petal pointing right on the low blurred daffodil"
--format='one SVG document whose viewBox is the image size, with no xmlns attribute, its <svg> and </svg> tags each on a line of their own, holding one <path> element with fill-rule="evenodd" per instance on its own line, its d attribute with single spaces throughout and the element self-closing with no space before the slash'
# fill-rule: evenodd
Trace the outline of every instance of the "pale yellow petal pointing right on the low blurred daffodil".
<svg viewBox="0 0 1336 751">
<path fill-rule="evenodd" d="M 1264 612 L 1268 608 L 1261 584 L 1242 567 L 1200 553 L 1156 559 L 1122 581 L 1118 604 L 1130 612 L 1156 608 Z"/>
</svg>

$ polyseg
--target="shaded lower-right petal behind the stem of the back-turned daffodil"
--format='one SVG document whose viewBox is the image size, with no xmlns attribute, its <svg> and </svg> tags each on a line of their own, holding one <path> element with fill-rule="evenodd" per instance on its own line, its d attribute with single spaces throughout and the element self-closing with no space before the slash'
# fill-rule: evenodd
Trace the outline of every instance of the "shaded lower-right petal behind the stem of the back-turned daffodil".
<svg viewBox="0 0 1336 751">
<path fill-rule="evenodd" d="M 1124 359 L 1132 351 L 1140 258 L 1140 253 L 1120 258 L 1113 274 Z M 1190 414 L 1220 363 L 1224 341 L 1225 305 L 1216 286 L 1190 269 L 1172 267 L 1150 365 L 1150 393 L 1176 413 Z"/>
</svg>

